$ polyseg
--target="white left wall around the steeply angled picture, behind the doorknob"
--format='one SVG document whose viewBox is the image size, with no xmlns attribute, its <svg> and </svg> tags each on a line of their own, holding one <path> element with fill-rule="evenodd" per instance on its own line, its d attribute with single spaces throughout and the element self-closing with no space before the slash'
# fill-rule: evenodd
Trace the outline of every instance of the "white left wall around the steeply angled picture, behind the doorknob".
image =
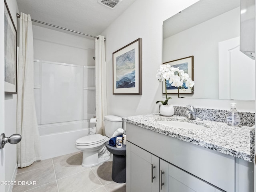
<svg viewBox="0 0 256 192">
<path fill-rule="evenodd" d="M 18 5 L 16 0 L 6 0 L 8 4 L 8 8 L 12 15 L 12 19 L 14 24 L 17 27 L 17 17 L 16 13 L 18 13 Z M 4 26 L 0 27 L 1 30 L 4 30 Z M 4 115 L 5 115 L 5 134 L 6 136 L 10 136 L 16 133 L 16 108 L 17 108 L 17 95 L 5 95 L 4 102 Z M 15 179 L 16 168 L 17 168 L 17 150 L 16 145 L 6 144 L 4 147 L 5 154 L 5 180 L 12 181 Z M 6 186 L 5 191 L 10 191 L 12 186 Z"/>
</svg>

